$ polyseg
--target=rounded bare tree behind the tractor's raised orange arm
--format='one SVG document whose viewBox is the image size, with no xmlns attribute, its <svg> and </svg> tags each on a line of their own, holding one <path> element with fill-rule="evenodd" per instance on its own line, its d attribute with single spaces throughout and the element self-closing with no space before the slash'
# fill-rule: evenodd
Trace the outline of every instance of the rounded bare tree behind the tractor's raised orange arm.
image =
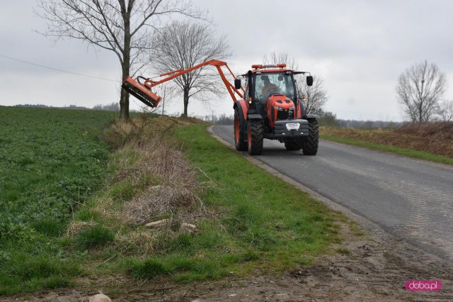
<svg viewBox="0 0 453 302">
<path fill-rule="evenodd" d="M 215 38 L 214 31 L 205 23 L 173 21 L 154 35 L 153 44 L 152 62 L 156 72 L 188 69 L 207 60 L 224 60 L 231 56 L 226 38 Z M 188 115 L 190 98 L 203 101 L 224 94 L 217 69 L 210 66 L 195 69 L 173 81 L 183 94 L 183 116 Z"/>
</svg>

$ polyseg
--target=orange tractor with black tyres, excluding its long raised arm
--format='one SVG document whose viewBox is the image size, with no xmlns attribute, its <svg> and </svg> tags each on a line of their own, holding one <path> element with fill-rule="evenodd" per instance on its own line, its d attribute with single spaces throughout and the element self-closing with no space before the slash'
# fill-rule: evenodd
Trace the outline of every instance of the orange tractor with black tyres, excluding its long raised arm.
<svg viewBox="0 0 453 302">
<path fill-rule="evenodd" d="M 285 64 L 252 65 L 241 77 L 245 79 L 243 100 L 234 104 L 234 139 L 236 150 L 248 150 L 251 155 L 261 154 L 263 138 L 285 143 L 287 150 L 302 149 L 306 155 L 318 150 L 317 116 L 304 112 L 294 75 Z M 313 84 L 311 75 L 307 86 Z M 241 80 L 235 79 L 239 89 Z"/>
</svg>

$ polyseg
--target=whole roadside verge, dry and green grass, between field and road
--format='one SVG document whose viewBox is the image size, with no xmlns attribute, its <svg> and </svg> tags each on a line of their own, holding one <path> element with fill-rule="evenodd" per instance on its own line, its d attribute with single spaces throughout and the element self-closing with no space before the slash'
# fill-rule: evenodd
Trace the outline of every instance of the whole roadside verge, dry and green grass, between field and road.
<svg viewBox="0 0 453 302">
<path fill-rule="evenodd" d="M 164 121 L 159 118 L 156 123 Z M 103 225 L 115 234 L 113 241 L 88 250 L 84 267 L 88 278 L 127 274 L 142 280 L 189 282 L 257 269 L 274 274 L 311 264 L 320 253 L 335 252 L 329 245 L 341 241 L 336 222 L 345 218 L 340 213 L 217 142 L 206 126 L 173 128 L 173 151 L 162 149 L 168 142 L 153 139 L 126 145 L 113 155 L 115 181 L 87 202 L 74 221 L 84 224 L 84 230 Z M 154 124 L 152 129 L 156 128 Z M 172 155 L 175 150 L 178 153 Z M 158 172 L 156 162 L 171 164 L 166 172 Z M 177 169 L 181 164 L 185 168 Z M 144 226 L 163 218 L 170 220 L 168 228 Z M 197 232 L 182 232 L 183 223 L 195 224 Z M 86 233 L 75 232 L 72 237 L 78 242 L 82 234 Z"/>
</svg>

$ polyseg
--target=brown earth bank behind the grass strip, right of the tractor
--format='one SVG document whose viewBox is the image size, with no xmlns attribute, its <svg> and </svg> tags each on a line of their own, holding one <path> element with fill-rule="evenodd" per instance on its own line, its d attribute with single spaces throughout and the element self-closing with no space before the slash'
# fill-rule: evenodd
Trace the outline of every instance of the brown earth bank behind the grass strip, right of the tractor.
<svg viewBox="0 0 453 302">
<path fill-rule="evenodd" d="M 394 130 L 322 127 L 321 133 L 453 158 L 453 122 L 407 124 Z"/>
</svg>

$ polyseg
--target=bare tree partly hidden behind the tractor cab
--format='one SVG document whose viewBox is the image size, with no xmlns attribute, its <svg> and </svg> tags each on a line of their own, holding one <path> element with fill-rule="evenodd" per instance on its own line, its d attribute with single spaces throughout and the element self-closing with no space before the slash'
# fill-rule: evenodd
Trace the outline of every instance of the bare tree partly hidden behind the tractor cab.
<svg viewBox="0 0 453 302">
<path fill-rule="evenodd" d="M 294 58 L 290 58 L 286 52 L 271 52 L 268 57 L 263 57 L 263 63 L 267 64 L 286 64 L 289 69 L 299 70 L 299 65 L 294 61 Z M 323 106 L 327 101 L 327 91 L 324 89 L 324 80 L 321 77 L 313 75 L 313 85 L 307 86 L 305 81 L 298 81 L 297 94 L 299 96 L 305 95 L 302 99 L 304 104 L 305 113 L 321 114 L 323 112 Z"/>
</svg>

